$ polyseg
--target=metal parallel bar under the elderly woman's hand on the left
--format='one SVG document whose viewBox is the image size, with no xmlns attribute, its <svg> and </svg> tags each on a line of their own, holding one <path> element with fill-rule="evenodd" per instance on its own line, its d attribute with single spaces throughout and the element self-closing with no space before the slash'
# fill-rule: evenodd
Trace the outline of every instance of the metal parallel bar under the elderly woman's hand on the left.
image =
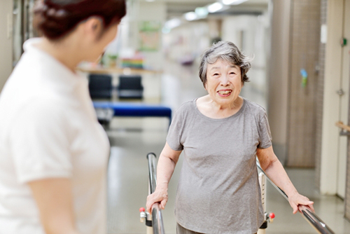
<svg viewBox="0 0 350 234">
<path fill-rule="evenodd" d="M 155 191 L 155 187 L 157 186 L 157 167 L 155 158 L 156 156 L 154 153 L 147 154 L 150 194 Z M 153 234 L 165 234 L 162 210 L 159 207 L 159 202 L 152 206 L 152 226 Z"/>
</svg>

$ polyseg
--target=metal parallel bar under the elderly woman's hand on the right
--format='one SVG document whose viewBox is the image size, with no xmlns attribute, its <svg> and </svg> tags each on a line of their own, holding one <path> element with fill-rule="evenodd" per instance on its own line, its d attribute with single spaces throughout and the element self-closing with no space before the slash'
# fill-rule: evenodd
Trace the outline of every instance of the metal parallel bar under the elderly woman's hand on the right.
<svg viewBox="0 0 350 234">
<path fill-rule="evenodd" d="M 262 173 L 265 174 L 265 172 L 260 167 L 260 163 L 259 163 L 258 160 L 256 160 L 256 165 L 258 166 L 259 170 Z M 274 184 L 274 182 L 272 182 L 271 179 L 269 179 L 269 177 L 267 177 L 267 174 L 265 174 L 265 176 L 269 180 L 269 182 L 274 186 L 274 188 L 276 188 L 276 190 L 279 191 L 279 193 L 281 193 L 281 195 L 283 195 L 283 197 L 286 198 L 286 200 L 288 200 L 288 196 L 286 195 L 286 193 L 284 193 L 284 191 L 281 190 L 281 188 L 276 186 L 276 184 Z M 309 209 L 309 207 L 304 206 L 304 205 L 300 206 L 300 212 L 301 212 L 302 216 L 304 217 L 304 219 L 306 219 L 309 222 L 309 224 L 318 233 L 321 233 L 321 234 L 335 234 L 330 229 L 330 227 L 328 227 L 327 224 L 325 224 L 325 222 L 323 222 L 314 212 L 311 211 L 311 209 Z"/>
</svg>

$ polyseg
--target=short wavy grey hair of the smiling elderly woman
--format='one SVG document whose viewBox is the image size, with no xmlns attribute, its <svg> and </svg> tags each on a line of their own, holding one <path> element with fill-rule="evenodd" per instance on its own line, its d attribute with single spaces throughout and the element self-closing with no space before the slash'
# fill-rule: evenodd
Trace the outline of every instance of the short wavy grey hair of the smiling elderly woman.
<svg viewBox="0 0 350 234">
<path fill-rule="evenodd" d="M 219 41 L 211 48 L 204 51 L 200 61 L 200 79 L 203 85 L 207 83 L 207 67 L 208 64 L 214 64 L 218 59 L 226 60 L 241 68 L 241 82 L 244 84 L 249 81 L 246 73 L 251 68 L 251 58 L 247 57 L 237 46 L 230 41 Z"/>
</svg>

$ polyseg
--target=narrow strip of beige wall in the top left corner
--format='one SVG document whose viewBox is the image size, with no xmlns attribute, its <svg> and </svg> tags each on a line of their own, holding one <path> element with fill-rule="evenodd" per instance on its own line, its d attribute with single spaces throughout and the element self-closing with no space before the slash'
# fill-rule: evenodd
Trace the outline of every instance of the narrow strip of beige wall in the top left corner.
<svg viewBox="0 0 350 234">
<path fill-rule="evenodd" d="M 12 71 L 12 8 L 13 1 L 0 0 L 0 92 Z"/>
</svg>

